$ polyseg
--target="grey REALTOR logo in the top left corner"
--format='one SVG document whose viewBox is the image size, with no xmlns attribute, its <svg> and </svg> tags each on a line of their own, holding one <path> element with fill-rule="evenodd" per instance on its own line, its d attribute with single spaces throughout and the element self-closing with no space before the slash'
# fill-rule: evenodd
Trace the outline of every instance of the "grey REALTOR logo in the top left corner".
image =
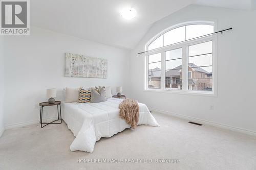
<svg viewBox="0 0 256 170">
<path fill-rule="evenodd" d="M 0 35 L 29 35 L 29 1 L 0 0 Z"/>
</svg>

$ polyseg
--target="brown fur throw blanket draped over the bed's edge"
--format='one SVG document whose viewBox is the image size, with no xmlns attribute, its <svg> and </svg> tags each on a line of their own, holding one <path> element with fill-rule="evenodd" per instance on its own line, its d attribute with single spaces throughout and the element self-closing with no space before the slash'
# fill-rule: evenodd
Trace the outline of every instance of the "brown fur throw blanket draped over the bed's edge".
<svg viewBox="0 0 256 170">
<path fill-rule="evenodd" d="M 139 122 L 138 102 L 134 99 L 125 99 L 119 104 L 118 108 L 120 109 L 119 116 L 135 129 Z"/>
</svg>

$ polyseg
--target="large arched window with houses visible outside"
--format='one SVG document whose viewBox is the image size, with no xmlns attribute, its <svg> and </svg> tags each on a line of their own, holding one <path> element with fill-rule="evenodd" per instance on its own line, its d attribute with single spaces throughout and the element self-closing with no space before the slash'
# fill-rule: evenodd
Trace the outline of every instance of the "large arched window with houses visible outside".
<svg viewBox="0 0 256 170">
<path fill-rule="evenodd" d="M 170 27 L 145 45 L 147 90 L 214 93 L 214 22 Z"/>
</svg>

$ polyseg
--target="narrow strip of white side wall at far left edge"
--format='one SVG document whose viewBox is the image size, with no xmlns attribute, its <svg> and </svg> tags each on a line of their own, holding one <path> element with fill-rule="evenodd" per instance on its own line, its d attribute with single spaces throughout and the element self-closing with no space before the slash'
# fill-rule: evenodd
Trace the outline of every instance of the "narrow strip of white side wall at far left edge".
<svg viewBox="0 0 256 170">
<path fill-rule="evenodd" d="M 4 132 L 4 38 L 0 37 L 0 136 Z"/>
</svg>

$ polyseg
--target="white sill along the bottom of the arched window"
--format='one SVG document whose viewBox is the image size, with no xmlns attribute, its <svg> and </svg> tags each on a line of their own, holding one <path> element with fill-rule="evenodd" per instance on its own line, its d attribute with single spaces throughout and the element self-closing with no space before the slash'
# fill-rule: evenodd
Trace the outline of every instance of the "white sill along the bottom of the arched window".
<svg viewBox="0 0 256 170">
<path fill-rule="evenodd" d="M 165 89 L 165 90 L 161 90 L 161 89 L 144 89 L 144 91 L 217 97 L 216 93 L 214 93 L 214 92 L 205 92 L 205 91 L 182 91 L 182 90 L 174 90 L 174 89 L 173 90 L 167 90 L 167 89 Z"/>
</svg>

